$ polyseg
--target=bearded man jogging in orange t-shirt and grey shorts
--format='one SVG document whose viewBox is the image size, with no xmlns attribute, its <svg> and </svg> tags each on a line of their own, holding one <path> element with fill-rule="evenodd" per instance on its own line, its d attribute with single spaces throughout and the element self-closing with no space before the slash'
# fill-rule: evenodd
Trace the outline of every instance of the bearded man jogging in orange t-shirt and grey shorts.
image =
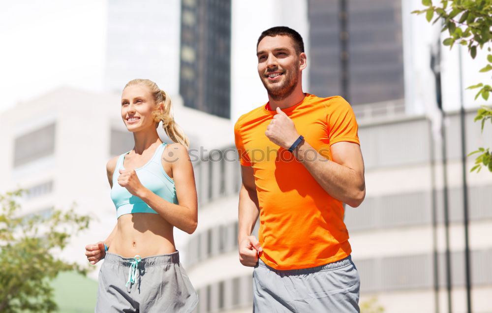
<svg viewBox="0 0 492 313">
<path fill-rule="evenodd" d="M 287 27 L 264 31 L 258 74 L 268 103 L 234 127 L 243 185 L 239 254 L 254 266 L 255 312 L 359 312 L 359 274 L 342 203 L 365 197 L 357 122 L 340 96 L 305 94 L 304 43 Z M 260 217 L 259 241 L 251 231 Z"/>
</svg>

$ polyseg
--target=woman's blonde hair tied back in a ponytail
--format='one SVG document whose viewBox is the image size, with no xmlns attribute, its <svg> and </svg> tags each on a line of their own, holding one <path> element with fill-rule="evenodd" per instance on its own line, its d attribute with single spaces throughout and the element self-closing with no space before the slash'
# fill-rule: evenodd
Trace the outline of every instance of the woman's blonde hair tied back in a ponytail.
<svg viewBox="0 0 492 313">
<path fill-rule="evenodd" d="M 157 87 L 157 84 L 149 79 L 130 80 L 124 88 L 135 85 L 146 86 L 152 93 L 155 101 L 155 110 L 153 112 L 155 123 L 157 123 L 158 125 L 158 123 L 162 121 L 162 128 L 164 128 L 164 131 L 169 136 L 169 138 L 174 142 L 184 145 L 186 149 L 189 148 L 188 137 L 184 134 L 181 127 L 176 124 L 176 122 L 174 122 L 173 110 L 171 107 L 171 98 L 169 97 L 169 95 L 166 94 L 165 91 Z M 162 113 L 160 112 L 160 110 L 158 110 L 158 105 L 161 102 L 164 102 L 164 110 Z M 155 127 L 157 127 L 157 125 Z"/>
</svg>

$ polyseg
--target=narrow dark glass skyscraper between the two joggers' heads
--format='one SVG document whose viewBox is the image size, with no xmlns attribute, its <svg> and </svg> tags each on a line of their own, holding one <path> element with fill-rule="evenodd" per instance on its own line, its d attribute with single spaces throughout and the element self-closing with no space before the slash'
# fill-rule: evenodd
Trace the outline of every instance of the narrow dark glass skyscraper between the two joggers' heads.
<svg viewBox="0 0 492 313">
<path fill-rule="evenodd" d="M 231 1 L 181 2 L 180 94 L 184 105 L 230 118 Z"/>
</svg>

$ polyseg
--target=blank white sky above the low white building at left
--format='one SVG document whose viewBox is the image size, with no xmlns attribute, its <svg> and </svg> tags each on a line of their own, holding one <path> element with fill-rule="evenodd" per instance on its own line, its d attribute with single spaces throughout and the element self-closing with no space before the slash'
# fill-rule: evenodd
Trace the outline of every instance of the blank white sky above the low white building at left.
<svg viewBox="0 0 492 313">
<path fill-rule="evenodd" d="M 59 86 L 103 87 L 105 0 L 3 1 L 0 112 Z"/>
</svg>

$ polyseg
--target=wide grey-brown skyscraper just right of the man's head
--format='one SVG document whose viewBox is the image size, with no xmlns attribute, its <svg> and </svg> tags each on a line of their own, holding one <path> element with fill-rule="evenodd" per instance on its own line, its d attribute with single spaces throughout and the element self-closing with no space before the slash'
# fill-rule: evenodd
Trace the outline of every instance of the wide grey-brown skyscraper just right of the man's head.
<svg viewBox="0 0 492 313">
<path fill-rule="evenodd" d="M 308 0 L 309 92 L 353 105 L 402 99 L 400 0 Z"/>
</svg>

